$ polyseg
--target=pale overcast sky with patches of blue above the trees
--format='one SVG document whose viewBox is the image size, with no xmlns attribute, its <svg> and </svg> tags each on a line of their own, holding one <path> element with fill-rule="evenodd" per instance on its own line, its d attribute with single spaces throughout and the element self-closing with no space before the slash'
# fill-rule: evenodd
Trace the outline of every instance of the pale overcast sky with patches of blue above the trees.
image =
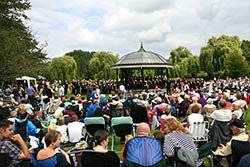
<svg viewBox="0 0 250 167">
<path fill-rule="evenodd" d="M 144 49 L 168 58 L 178 46 L 199 55 L 211 36 L 250 40 L 250 0 L 30 0 L 36 39 L 48 57 Z"/>
</svg>

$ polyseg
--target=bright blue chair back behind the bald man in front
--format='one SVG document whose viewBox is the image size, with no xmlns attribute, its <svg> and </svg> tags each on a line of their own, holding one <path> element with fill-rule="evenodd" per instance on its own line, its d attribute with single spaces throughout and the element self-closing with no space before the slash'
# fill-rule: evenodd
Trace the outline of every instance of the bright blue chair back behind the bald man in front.
<svg viewBox="0 0 250 167">
<path fill-rule="evenodd" d="M 163 160 L 160 142 L 149 136 L 140 136 L 129 140 L 124 155 L 125 165 L 129 167 L 135 164 L 148 167 L 154 166 Z"/>
</svg>

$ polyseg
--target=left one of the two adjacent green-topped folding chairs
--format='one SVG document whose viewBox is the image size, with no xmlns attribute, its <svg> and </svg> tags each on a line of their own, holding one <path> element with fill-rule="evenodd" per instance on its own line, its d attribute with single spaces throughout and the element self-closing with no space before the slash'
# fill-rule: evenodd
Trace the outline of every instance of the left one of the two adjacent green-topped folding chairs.
<svg viewBox="0 0 250 167">
<path fill-rule="evenodd" d="M 89 136 L 93 136 L 97 130 L 105 130 L 105 120 L 103 117 L 87 117 L 84 119 L 87 130 L 86 141 Z"/>
</svg>

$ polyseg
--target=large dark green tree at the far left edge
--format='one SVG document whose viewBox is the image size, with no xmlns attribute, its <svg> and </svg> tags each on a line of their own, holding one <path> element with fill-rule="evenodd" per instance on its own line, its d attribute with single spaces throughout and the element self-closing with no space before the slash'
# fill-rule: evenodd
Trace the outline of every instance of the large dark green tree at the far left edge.
<svg viewBox="0 0 250 167">
<path fill-rule="evenodd" d="M 23 21 L 30 9 L 28 0 L 0 2 L 0 78 L 14 80 L 20 75 L 35 75 L 44 65 L 43 46 L 38 47 L 31 31 Z"/>
</svg>

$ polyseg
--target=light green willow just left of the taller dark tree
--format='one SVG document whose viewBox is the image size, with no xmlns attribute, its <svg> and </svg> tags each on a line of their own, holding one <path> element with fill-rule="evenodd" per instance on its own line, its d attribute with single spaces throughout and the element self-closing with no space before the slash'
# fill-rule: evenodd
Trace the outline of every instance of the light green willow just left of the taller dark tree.
<svg viewBox="0 0 250 167">
<path fill-rule="evenodd" d="M 65 55 L 52 59 L 49 73 L 51 80 L 70 81 L 76 78 L 76 73 L 77 64 L 73 57 Z"/>
</svg>

